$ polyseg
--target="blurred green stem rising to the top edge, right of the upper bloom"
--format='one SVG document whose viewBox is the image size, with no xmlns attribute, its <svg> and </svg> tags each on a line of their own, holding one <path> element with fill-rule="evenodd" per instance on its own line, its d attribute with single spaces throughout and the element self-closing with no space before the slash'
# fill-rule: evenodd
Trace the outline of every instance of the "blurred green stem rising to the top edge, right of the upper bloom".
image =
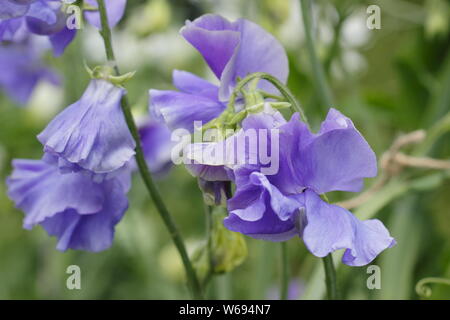
<svg viewBox="0 0 450 320">
<path fill-rule="evenodd" d="M 306 49 L 308 50 L 308 56 L 314 75 L 314 85 L 316 87 L 317 97 L 322 107 L 330 108 L 333 106 L 333 96 L 326 81 L 322 64 L 320 63 L 317 56 L 312 36 L 311 0 L 300 0 L 300 4 L 302 8 L 303 25 L 305 29 Z"/>
</svg>

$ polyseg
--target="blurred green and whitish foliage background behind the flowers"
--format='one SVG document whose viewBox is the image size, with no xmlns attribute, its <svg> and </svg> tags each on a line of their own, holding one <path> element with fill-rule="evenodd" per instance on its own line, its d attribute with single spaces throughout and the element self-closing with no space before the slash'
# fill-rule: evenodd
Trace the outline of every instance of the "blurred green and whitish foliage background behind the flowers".
<svg viewBox="0 0 450 320">
<path fill-rule="evenodd" d="M 127 83 L 136 116 L 147 112 L 148 90 L 168 89 L 173 69 L 213 79 L 201 56 L 178 34 L 186 19 L 218 13 L 261 24 L 289 55 L 289 87 L 313 127 L 324 106 L 313 85 L 311 64 L 297 0 L 130 0 L 114 30 L 114 46 L 123 72 L 137 70 Z M 381 8 L 381 29 L 366 27 L 367 7 Z M 450 4 L 445 0 L 315 1 L 318 54 L 332 87 L 335 107 L 351 117 L 378 157 L 393 140 L 412 130 L 436 128 L 450 111 Z M 13 158 L 39 158 L 38 134 L 50 119 L 74 102 L 89 78 L 89 65 L 104 61 L 98 32 L 85 26 L 61 58 L 46 61 L 62 75 L 61 87 L 40 84 L 26 107 L 0 92 L 0 298 L 1 299 L 179 299 L 188 298 L 183 270 L 166 229 L 139 176 L 129 193 L 130 208 L 118 225 L 113 246 L 102 253 L 58 252 L 56 241 L 40 228 L 22 229 L 23 214 L 6 195 L 5 179 Z M 448 117 L 447 117 L 448 118 Z M 441 121 L 441 122 L 439 122 Z M 449 125 L 441 127 L 422 150 L 450 157 Z M 405 152 L 414 154 L 410 147 Z M 376 215 L 398 245 L 372 264 L 381 268 L 380 290 L 369 290 L 366 267 L 338 268 L 346 299 L 418 299 L 414 290 L 424 277 L 450 278 L 450 175 L 405 169 L 370 203 L 355 212 Z M 367 186 L 374 179 L 367 181 Z M 158 181 L 190 247 L 204 239 L 202 195 L 183 167 Z M 333 201 L 352 197 L 330 195 Z M 232 273 L 217 276 L 209 298 L 276 298 L 280 246 L 246 238 L 248 257 Z M 321 261 L 301 240 L 288 242 L 294 298 L 322 298 Z M 66 268 L 81 268 L 81 290 L 66 288 Z M 450 298 L 450 286 L 431 285 L 431 298 Z"/>
</svg>

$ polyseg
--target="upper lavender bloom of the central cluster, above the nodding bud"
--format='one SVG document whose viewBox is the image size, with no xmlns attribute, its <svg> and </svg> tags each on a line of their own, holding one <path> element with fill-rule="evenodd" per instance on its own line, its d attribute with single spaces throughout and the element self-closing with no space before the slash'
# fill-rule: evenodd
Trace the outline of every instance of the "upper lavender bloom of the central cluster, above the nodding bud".
<svg viewBox="0 0 450 320">
<path fill-rule="evenodd" d="M 191 73 L 175 71 L 173 84 L 179 91 L 150 90 L 150 113 L 171 130 L 194 130 L 217 118 L 226 107 L 238 77 L 253 72 L 268 72 L 286 82 L 288 60 L 280 43 L 258 25 L 245 19 L 229 22 L 219 15 L 207 14 L 186 22 L 180 33 L 204 57 L 220 80 L 220 87 Z M 259 87 L 273 91 L 266 81 Z M 224 168 L 192 164 L 188 169 L 207 181 L 227 181 Z"/>
</svg>

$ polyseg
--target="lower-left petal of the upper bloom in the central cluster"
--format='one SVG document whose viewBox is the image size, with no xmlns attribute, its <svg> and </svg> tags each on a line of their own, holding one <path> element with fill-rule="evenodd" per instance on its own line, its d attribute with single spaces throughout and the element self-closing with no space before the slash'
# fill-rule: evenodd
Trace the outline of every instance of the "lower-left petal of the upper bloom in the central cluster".
<svg viewBox="0 0 450 320">
<path fill-rule="evenodd" d="M 171 130 L 194 131 L 194 122 L 204 124 L 219 116 L 225 106 L 205 96 L 177 91 L 150 90 L 150 113 Z"/>
</svg>

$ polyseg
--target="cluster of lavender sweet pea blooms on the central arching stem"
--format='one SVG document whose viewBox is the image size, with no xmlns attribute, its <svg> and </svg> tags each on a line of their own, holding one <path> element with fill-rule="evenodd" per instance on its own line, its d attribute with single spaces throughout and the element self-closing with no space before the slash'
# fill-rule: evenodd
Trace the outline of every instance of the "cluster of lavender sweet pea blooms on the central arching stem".
<svg viewBox="0 0 450 320">
<path fill-rule="evenodd" d="M 202 54 L 220 85 L 175 71 L 173 83 L 180 91 L 150 90 L 150 112 L 172 130 L 192 132 L 195 121 L 217 119 L 238 80 L 250 73 L 266 72 L 286 81 L 288 65 L 283 48 L 247 20 L 229 22 L 217 15 L 205 15 L 188 21 L 181 34 Z M 255 90 L 273 92 L 274 88 L 260 81 Z M 360 191 L 363 178 L 377 173 L 375 154 L 352 121 L 331 109 L 320 131 L 314 134 L 298 114 L 287 122 L 267 105 L 261 112 L 247 116 L 231 137 L 186 148 L 188 157 L 194 160 L 188 165 L 189 171 L 200 178 L 205 192 L 216 196 L 216 203 L 223 195 L 222 181 L 231 180 L 236 185 L 227 201 L 229 216 L 225 226 L 269 241 L 299 236 L 318 257 L 346 249 L 343 262 L 352 266 L 370 263 L 393 246 L 395 240 L 380 221 L 360 221 L 321 198 L 330 191 Z M 277 154 L 277 172 L 267 174 L 267 164 L 246 161 L 262 145 L 261 136 L 246 142 L 250 130 L 265 132 L 269 145 L 283 146 Z M 271 135 L 272 131 L 277 135 Z M 276 141 L 271 141 L 274 137 Z M 230 150 L 236 150 L 239 142 L 247 148 L 234 155 Z M 219 149 L 223 152 L 212 152 Z M 214 156 L 224 153 L 223 159 Z"/>
</svg>

